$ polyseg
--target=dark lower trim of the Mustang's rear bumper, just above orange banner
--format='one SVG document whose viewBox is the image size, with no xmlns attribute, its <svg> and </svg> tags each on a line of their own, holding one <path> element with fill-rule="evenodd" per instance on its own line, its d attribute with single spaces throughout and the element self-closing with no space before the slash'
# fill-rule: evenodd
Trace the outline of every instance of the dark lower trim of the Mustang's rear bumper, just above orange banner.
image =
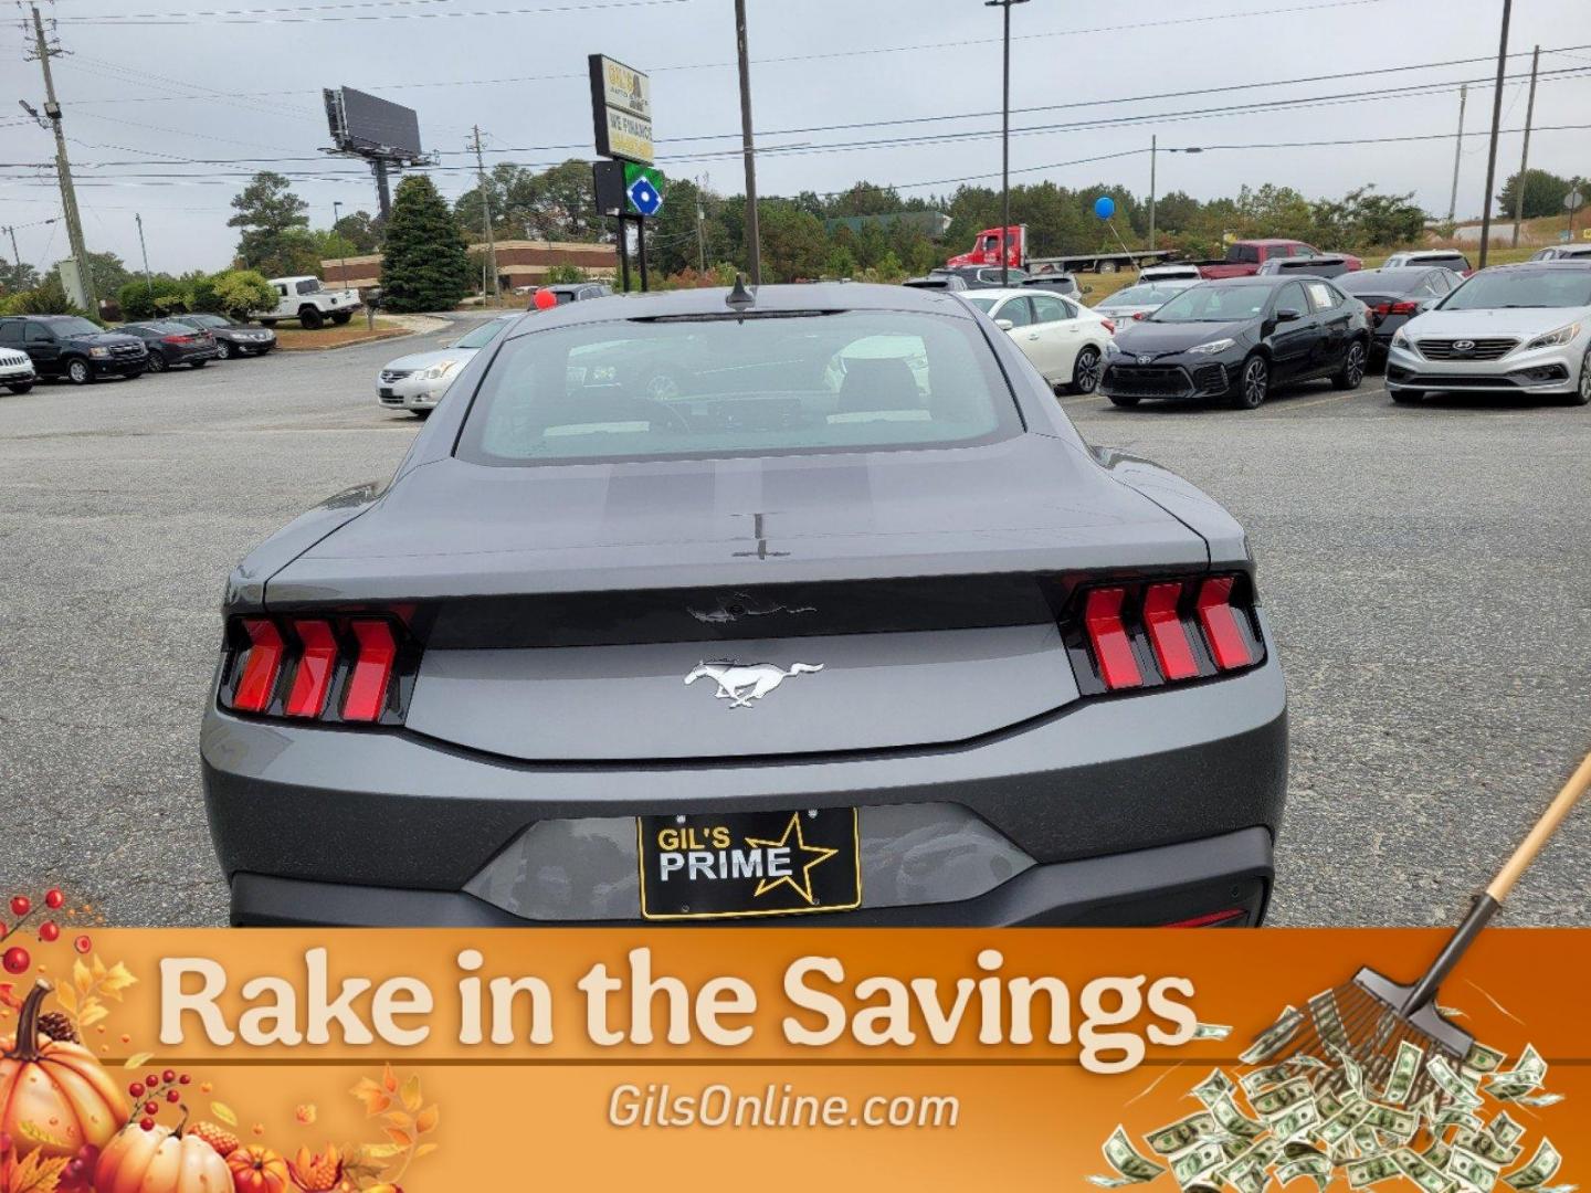
<svg viewBox="0 0 1591 1193">
<path fill-rule="evenodd" d="M 955 903 L 881 907 L 823 916 L 756 921 L 794 927 L 1139 927 L 1235 911 L 1222 927 L 1265 918 L 1274 869 L 1271 834 L 1254 827 L 1200 841 L 1076 862 L 1036 865 L 985 896 Z M 239 873 L 232 924 L 239 927 L 525 927 L 527 921 L 463 891 L 344 886 Z M 571 926 L 574 921 L 558 921 Z M 722 926 L 698 921 L 687 926 Z M 601 927 L 652 921 L 598 921 Z"/>
</svg>

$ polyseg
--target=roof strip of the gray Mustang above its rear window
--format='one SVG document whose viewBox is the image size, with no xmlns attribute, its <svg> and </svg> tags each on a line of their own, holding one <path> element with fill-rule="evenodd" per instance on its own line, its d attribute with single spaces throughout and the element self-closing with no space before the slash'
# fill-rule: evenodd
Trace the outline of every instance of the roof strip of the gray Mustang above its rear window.
<svg viewBox="0 0 1591 1193">
<path fill-rule="evenodd" d="M 609 294 L 587 302 L 566 302 L 549 307 L 535 320 L 528 320 L 519 334 L 531 334 L 573 323 L 608 323 L 611 320 L 690 318 L 706 315 L 730 317 L 735 310 L 725 304 L 732 291 L 725 286 L 710 290 L 668 290 L 648 294 Z M 807 310 L 904 310 L 923 315 L 953 315 L 971 318 L 951 293 L 943 290 L 913 290 L 912 286 L 885 286 L 870 282 L 808 282 L 800 285 L 759 286 L 748 309 L 756 313 L 797 313 Z M 1023 291 L 1013 291 L 1023 293 Z"/>
</svg>

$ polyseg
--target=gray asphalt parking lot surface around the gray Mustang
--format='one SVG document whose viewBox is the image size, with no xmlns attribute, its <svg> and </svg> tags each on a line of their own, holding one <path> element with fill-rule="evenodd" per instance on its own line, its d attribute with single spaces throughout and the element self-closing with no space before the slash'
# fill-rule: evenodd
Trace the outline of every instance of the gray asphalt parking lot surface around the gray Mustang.
<svg viewBox="0 0 1591 1193">
<path fill-rule="evenodd" d="M 450 337 L 0 393 L 0 888 L 224 923 L 197 775 L 221 585 L 391 472 L 420 423 L 374 372 Z M 1251 533 L 1293 717 L 1271 923 L 1453 923 L 1591 748 L 1591 409 L 1406 409 L 1375 377 L 1252 414 L 1064 407 Z M 1591 924 L 1588 869 L 1581 813 L 1505 923 Z"/>
</svg>

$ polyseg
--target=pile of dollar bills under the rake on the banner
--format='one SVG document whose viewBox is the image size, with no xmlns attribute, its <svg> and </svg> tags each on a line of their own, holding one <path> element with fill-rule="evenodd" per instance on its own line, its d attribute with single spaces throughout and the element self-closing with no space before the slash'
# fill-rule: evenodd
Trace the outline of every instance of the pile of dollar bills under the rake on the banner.
<svg viewBox="0 0 1591 1193">
<path fill-rule="evenodd" d="M 1274 1179 L 1286 1185 L 1311 1177 L 1324 1190 L 1336 1177 L 1371 1188 L 1406 1177 L 1424 1193 L 1575 1193 L 1550 1185 L 1562 1158 L 1542 1139 L 1524 1156 L 1526 1129 L 1507 1107 L 1543 1107 L 1562 1101 L 1546 1093 L 1546 1061 L 1526 1045 L 1511 1067 L 1497 1048 L 1475 1043 L 1457 1064 L 1402 1040 L 1386 1080 L 1376 1088 L 1348 1050 L 1332 994 L 1311 999 L 1309 1016 L 1327 1056 L 1276 1059 L 1298 1036 L 1306 1016 L 1287 1007 L 1243 1053 L 1236 1077 L 1216 1069 L 1188 1098 L 1203 1107 L 1144 1137 L 1139 1152 L 1117 1126 L 1103 1152 L 1114 1176 L 1091 1176 L 1099 1188 L 1123 1188 L 1171 1172 L 1188 1193 L 1262 1193 Z M 1200 1024 L 1198 1039 L 1225 1039 L 1230 1028 Z M 1429 1082 L 1421 1083 L 1421 1074 Z M 1416 1106 L 1418 1088 L 1435 1086 Z M 1150 1158 L 1153 1156 L 1153 1158 Z M 1510 1168 L 1513 1166 L 1513 1168 Z M 1507 1169 L 1507 1171 L 1505 1171 Z"/>
</svg>

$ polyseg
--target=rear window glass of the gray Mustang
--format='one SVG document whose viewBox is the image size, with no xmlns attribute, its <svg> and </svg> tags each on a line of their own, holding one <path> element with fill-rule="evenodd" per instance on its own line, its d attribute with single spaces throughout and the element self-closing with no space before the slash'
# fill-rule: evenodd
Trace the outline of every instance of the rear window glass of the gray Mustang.
<svg viewBox="0 0 1591 1193">
<path fill-rule="evenodd" d="M 950 447 L 1021 429 L 977 324 L 907 312 L 581 323 L 508 340 L 457 455 L 484 464 Z"/>
</svg>

